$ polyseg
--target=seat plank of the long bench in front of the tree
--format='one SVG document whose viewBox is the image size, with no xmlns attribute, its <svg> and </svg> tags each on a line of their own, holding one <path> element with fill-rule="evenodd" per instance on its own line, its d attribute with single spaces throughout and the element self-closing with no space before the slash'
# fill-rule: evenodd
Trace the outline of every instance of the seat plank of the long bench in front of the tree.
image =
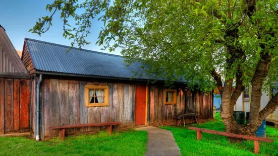
<svg viewBox="0 0 278 156">
<path fill-rule="evenodd" d="M 272 139 L 256 137 L 256 136 L 241 135 L 241 134 L 235 134 L 235 133 L 229 133 L 229 132 L 222 132 L 222 131 L 216 131 L 216 130 L 210 130 L 210 129 L 197 128 L 197 127 L 188 127 L 188 129 L 201 131 L 201 132 L 205 132 L 205 133 L 210 133 L 210 134 L 218 134 L 218 135 L 223 135 L 223 136 L 241 138 L 241 139 L 246 139 L 246 140 L 273 142 Z"/>
</svg>

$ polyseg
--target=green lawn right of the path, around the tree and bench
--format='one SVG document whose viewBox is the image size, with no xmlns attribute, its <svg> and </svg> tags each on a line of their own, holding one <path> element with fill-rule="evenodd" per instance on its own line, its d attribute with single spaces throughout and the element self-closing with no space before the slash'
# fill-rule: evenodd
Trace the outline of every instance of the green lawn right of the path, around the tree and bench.
<svg viewBox="0 0 278 156">
<path fill-rule="evenodd" d="M 225 131 L 225 126 L 216 113 L 215 120 L 200 125 L 188 125 L 206 129 Z M 203 133 L 202 140 L 196 140 L 196 131 L 184 127 L 162 127 L 171 130 L 182 155 L 256 155 L 254 141 L 243 141 L 241 143 L 230 143 L 225 136 Z M 260 142 L 261 155 L 278 155 L 278 130 L 266 127 L 267 138 L 275 139 L 274 142 Z"/>
</svg>

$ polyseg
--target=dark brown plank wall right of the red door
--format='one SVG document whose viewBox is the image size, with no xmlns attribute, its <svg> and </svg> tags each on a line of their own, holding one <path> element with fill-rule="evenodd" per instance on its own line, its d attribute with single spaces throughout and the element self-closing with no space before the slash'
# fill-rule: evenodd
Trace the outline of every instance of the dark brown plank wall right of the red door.
<svg viewBox="0 0 278 156">
<path fill-rule="evenodd" d="M 177 104 L 164 105 L 163 91 L 163 87 L 150 86 L 150 126 L 157 123 L 175 125 L 176 119 L 174 118 L 185 113 L 197 113 L 198 119 L 213 118 L 212 93 L 205 94 L 179 88 L 177 89 Z M 189 122 L 189 119 L 186 122 Z"/>
</svg>

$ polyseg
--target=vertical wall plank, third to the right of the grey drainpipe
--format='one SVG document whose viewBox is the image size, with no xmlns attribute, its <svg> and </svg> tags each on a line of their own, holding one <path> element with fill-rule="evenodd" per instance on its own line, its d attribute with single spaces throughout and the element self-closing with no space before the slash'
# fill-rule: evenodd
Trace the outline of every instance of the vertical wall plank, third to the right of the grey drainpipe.
<svg viewBox="0 0 278 156">
<path fill-rule="evenodd" d="M 69 81 L 59 80 L 60 125 L 70 124 Z M 69 133 L 69 130 L 66 130 Z"/>
</svg>

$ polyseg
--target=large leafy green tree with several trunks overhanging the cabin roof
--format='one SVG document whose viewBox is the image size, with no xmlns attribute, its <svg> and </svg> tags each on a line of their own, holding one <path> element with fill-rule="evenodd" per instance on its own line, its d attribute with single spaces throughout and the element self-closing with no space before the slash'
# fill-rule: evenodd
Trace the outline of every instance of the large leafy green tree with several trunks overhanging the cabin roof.
<svg viewBox="0 0 278 156">
<path fill-rule="evenodd" d="M 261 112 L 258 102 L 262 86 L 269 92 L 278 77 L 277 0 L 55 0 L 46 9 L 50 16 L 39 19 L 33 33 L 47 31 L 60 11 L 63 35 L 82 46 L 89 44 L 92 19 L 99 18 L 104 26 L 96 44 L 109 51 L 121 47 L 128 63 L 140 61 L 147 73 L 172 82 L 184 79 L 202 91 L 217 87 L 227 129 L 236 127 L 231 112 L 245 86 L 252 86 L 253 95 L 249 127 L 277 107 L 278 95 Z M 236 129 L 243 133 L 243 128 Z"/>
</svg>

